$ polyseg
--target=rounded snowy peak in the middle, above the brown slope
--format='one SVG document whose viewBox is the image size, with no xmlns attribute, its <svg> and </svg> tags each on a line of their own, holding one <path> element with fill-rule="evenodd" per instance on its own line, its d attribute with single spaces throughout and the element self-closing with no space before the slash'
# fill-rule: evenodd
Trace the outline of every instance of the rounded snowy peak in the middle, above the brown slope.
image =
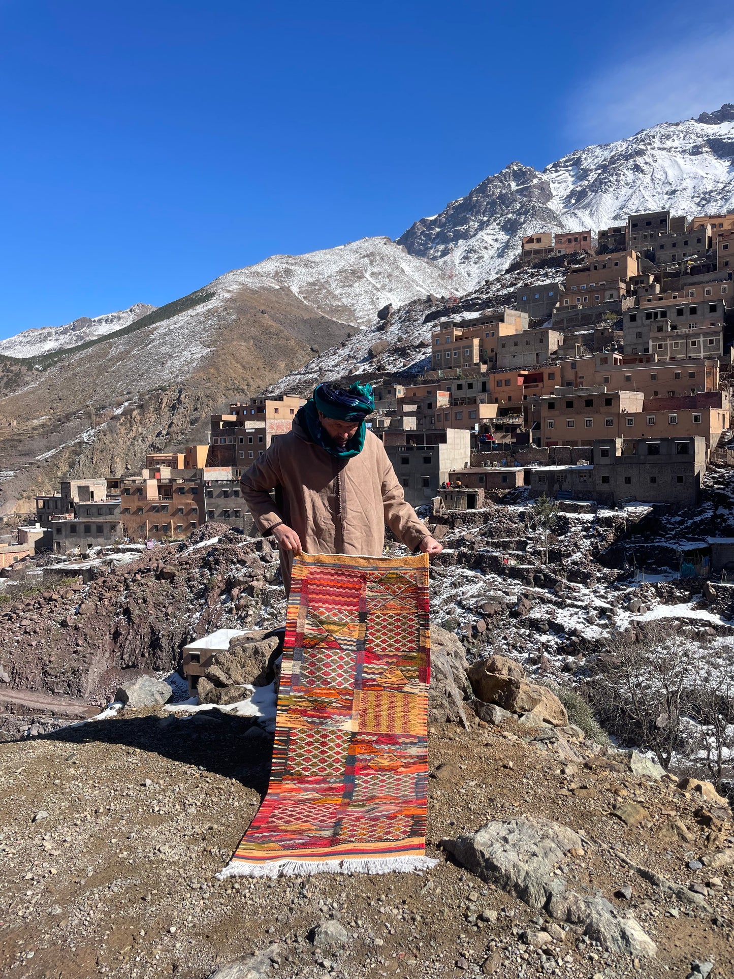
<svg viewBox="0 0 734 979">
<path fill-rule="evenodd" d="M 463 277 L 450 283 L 440 265 L 409 255 L 390 238 L 361 238 L 307 255 L 274 255 L 211 283 L 213 289 L 240 286 L 286 287 L 330 319 L 366 326 L 388 303 L 403 305 L 430 293 L 463 291 L 466 283 Z"/>
</svg>

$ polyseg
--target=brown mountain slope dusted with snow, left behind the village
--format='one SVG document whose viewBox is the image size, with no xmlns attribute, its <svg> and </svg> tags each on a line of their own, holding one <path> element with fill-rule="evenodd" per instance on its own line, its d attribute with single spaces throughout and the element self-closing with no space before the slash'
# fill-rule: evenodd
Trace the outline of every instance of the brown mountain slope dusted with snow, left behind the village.
<svg viewBox="0 0 734 979">
<path fill-rule="evenodd" d="M 348 333 L 290 290 L 200 290 L 108 337 L 0 359 L 0 513 L 64 474 L 138 471 L 146 451 L 206 442 L 207 415 Z"/>
</svg>

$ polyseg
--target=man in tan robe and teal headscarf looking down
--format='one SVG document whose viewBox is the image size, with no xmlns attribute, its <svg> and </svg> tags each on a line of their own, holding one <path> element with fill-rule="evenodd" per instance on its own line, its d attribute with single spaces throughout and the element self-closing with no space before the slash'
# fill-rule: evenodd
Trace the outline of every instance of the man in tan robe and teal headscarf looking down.
<svg viewBox="0 0 734 979">
<path fill-rule="evenodd" d="M 278 541 L 287 593 L 294 554 L 379 557 L 386 524 L 411 550 L 442 550 L 405 501 L 385 446 L 366 429 L 364 419 L 374 410 L 369 384 L 346 391 L 318 385 L 291 432 L 242 477 L 257 529 Z"/>
</svg>

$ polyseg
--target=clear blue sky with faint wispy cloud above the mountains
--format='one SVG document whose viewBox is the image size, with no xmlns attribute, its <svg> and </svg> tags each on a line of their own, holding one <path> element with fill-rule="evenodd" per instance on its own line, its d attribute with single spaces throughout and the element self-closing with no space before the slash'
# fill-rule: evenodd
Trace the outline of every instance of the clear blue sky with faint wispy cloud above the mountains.
<svg viewBox="0 0 734 979">
<path fill-rule="evenodd" d="M 0 0 L 0 337 L 394 238 L 513 160 L 734 102 L 734 16 L 702 16 Z"/>
</svg>

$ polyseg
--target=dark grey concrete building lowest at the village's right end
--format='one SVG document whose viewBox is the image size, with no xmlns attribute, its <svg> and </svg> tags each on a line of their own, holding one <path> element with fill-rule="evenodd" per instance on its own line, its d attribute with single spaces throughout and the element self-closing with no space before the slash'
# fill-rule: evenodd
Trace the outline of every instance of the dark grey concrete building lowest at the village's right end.
<svg viewBox="0 0 734 979">
<path fill-rule="evenodd" d="M 706 443 L 695 437 L 597 440 L 593 445 L 594 498 L 691 506 L 706 473 Z"/>
</svg>

